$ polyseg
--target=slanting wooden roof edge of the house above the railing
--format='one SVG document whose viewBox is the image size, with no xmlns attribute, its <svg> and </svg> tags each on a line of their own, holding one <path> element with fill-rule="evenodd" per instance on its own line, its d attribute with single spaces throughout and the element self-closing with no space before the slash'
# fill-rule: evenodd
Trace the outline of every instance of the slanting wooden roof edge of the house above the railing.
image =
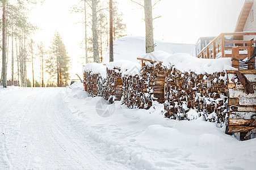
<svg viewBox="0 0 256 170">
<path fill-rule="evenodd" d="M 253 0 L 245 0 L 240 16 L 238 17 L 236 29 L 234 29 L 234 32 L 244 31 L 245 23 L 252 6 L 253 6 Z"/>
</svg>

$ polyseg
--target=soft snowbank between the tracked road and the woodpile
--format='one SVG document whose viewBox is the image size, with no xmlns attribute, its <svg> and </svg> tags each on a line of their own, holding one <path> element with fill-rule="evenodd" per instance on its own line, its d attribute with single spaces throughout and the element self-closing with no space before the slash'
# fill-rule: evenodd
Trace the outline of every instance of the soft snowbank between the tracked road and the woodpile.
<svg viewBox="0 0 256 170">
<path fill-rule="evenodd" d="M 119 102 L 114 113 L 101 117 L 96 103 L 101 97 L 75 95 L 66 88 L 65 101 L 73 116 L 98 142 L 96 150 L 108 160 L 132 169 L 253 169 L 256 139 L 240 142 L 224 133 L 225 127 L 205 122 L 169 120 L 162 104 L 154 108 L 127 109 Z M 86 94 L 86 92 L 83 92 Z M 192 113 L 191 113 L 192 115 Z"/>
</svg>

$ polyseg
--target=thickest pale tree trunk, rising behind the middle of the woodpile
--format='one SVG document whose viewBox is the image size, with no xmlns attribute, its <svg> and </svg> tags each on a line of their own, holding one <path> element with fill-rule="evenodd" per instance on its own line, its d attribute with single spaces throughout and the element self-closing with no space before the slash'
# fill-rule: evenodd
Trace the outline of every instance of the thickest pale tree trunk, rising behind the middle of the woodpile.
<svg viewBox="0 0 256 170">
<path fill-rule="evenodd" d="M 144 0 L 145 27 L 146 27 L 146 53 L 154 52 L 152 2 Z"/>
</svg>

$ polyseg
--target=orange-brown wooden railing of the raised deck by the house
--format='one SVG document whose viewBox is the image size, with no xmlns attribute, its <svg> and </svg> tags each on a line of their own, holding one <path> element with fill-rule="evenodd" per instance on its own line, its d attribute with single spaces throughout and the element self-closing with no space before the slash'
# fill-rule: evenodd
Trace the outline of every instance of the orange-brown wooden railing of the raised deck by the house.
<svg viewBox="0 0 256 170">
<path fill-rule="evenodd" d="M 255 40 L 225 40 L 225 36 L 255 36 L 256 32 L 232 32 L 221 33 L 213 39 L 198 54 L 198 58 L 220 58 L 236 56 L 237 59 L 250 58 L 253 55 Z M 236 54 L 232 53 L 232 49 L 236 48 Z M 237 54 L 238 53 L 238 54 Z M 232 57 L 233 58 L 233 57 Z M 255 58 L 254 61 L 255 62 Z"/>
</svg>

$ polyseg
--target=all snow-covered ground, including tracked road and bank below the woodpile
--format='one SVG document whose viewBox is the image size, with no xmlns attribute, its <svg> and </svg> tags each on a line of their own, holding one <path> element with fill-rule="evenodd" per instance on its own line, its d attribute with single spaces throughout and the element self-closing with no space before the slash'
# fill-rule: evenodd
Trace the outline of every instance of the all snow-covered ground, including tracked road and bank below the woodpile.
<svg viewBox="0 0 256 170">
<path fill-rule="evenodd" d="M 71 88 L 0 87 L 0 169 L 255 169 L 256 139 Z M 104 105 L 106 106 L 106 105 Z M 103 107 L 104 110 L 104 107 Z M 105 112 L 106 113 L 106 112 Z"/>
</svg>

